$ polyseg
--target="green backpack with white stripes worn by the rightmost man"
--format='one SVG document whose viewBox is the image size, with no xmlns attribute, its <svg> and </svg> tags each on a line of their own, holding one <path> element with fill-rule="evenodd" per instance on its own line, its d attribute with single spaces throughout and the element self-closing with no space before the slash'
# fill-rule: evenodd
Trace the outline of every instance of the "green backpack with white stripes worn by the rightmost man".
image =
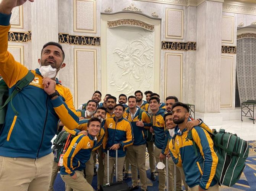
<svg viewBox="0 0 256 191">
<path fill-rule="evenodd" d="M 224 129 L 220 129 L 219 132 L 216 129 L 213 129 L 213 132 L 207 132 L 212 137 L 214 151 L 218 157 L 214 178 L 219 184 L 232 186 L 239 180 L 245 169 L 245 160 L 249 154 L 248 142 L 237 137 L 236 134 L 225 132 Z M 197 156 L 198 152 L 191 131 L 188 132 L 188 138 L 193 141 Z"/>
</svg>

